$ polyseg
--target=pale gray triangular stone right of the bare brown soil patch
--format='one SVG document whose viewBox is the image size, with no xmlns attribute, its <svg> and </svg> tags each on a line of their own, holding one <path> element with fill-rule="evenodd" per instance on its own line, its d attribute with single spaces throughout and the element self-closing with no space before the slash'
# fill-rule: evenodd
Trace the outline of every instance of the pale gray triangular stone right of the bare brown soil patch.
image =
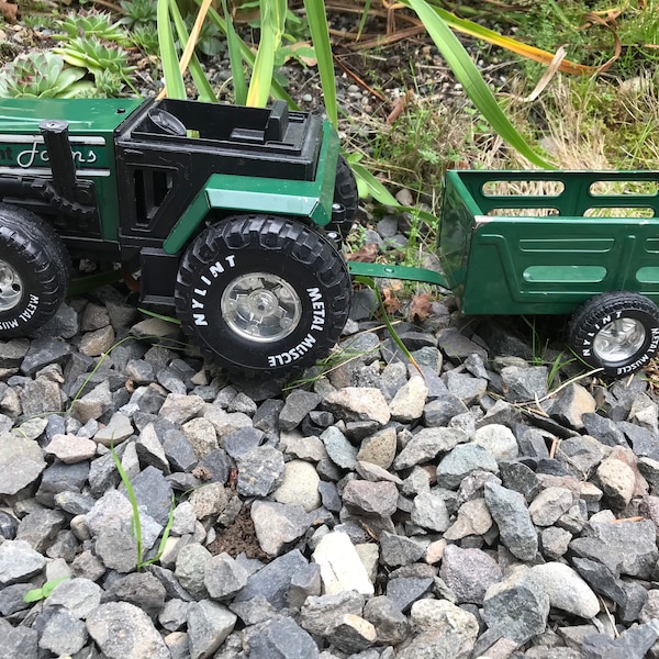
<svg viewBox="0 0 659 659">
<path fill-rule="evenodd" d="M 255 501 L 250 514 L 258 544 L 270 556 L 279 556 L 301 538 L 313 521 L 299 505 L 269 501 Z"/>
</svg>

